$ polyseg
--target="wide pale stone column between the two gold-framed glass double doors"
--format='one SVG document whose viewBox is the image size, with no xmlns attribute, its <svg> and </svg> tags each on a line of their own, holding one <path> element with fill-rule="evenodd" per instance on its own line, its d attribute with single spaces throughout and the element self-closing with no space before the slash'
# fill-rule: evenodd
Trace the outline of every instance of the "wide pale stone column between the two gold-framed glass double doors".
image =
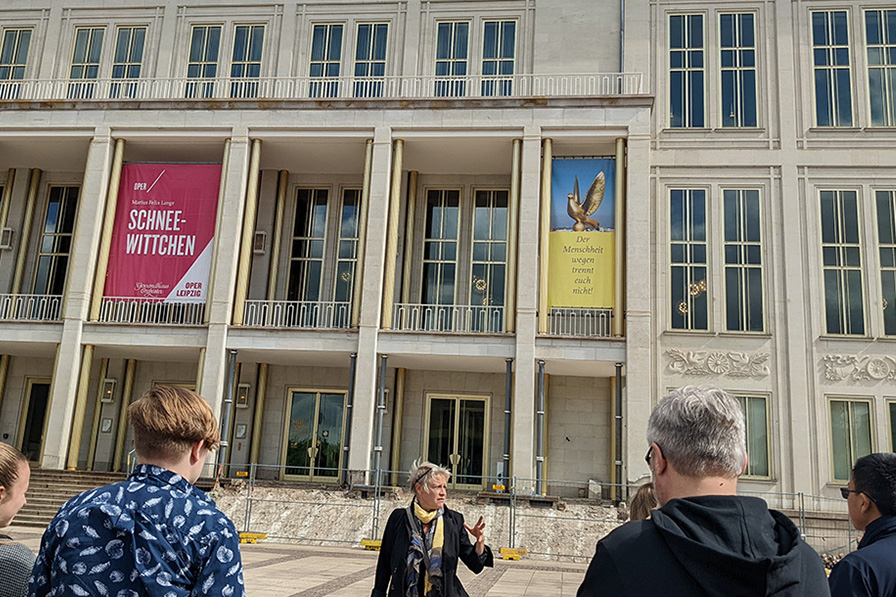
<svg viewBox="0 0 896 597">
<path fill-rule="evenodd" d="M 373 421 L 376 408 L 377 340 L 383 298 L 386 258 L 386 217 L 392 169 L 392 139 L 388 127 L 378 127 L 373 139 L 370 173 L 370 205 L 364 249 L 361 321 L 358 327 L 358 361 L 355 370 L 355 404 L 352 408 L 352 436 L 348 469 L 370 468 L 373 450 Z M 357 480 L 357 474 L 355 474 Z"/>
</svg>

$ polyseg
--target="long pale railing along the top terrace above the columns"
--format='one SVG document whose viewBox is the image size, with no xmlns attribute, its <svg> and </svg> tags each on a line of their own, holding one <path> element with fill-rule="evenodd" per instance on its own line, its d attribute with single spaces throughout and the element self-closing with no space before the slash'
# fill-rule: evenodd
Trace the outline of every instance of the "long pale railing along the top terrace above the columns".
<svg viewBox="0 0 896 597">
<path fill-rule="evenodd" d="M 0 81 L 4 100 L 433 99 L 592 97 L 643 93 L 641 73 L 466 77 L 260 77 L 237 79 L 22 79 Z"/>
</svg>

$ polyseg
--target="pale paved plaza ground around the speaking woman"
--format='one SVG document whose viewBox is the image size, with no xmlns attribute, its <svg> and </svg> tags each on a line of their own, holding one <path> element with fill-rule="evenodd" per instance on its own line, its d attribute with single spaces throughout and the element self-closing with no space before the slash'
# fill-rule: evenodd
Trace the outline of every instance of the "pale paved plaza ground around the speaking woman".
<svg viewBox="0 0 896 597">
<path fill-rule="evenodd" d="M 7 532 L 35 552 L 40 547 L 38 529 L 13 526 Z M 263 541 L 243 545 L 242 553 L 250 597 L 366 597 L 373 587 L 376 552 Z M 461 564 L 458 576 L 470 597 L 572 597 L 586 567 L 537 560 L 496 561 L 494 568 L 479 575 Z"/>
</svg>

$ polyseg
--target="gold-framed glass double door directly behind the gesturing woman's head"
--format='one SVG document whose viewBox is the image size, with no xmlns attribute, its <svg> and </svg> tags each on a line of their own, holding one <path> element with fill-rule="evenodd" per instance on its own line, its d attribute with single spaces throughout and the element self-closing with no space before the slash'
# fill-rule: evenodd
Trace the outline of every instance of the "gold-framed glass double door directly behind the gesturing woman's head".
<svg viewBox="0 0 896 597">
<path fill-rule="evenodd" d="M 452 487 L 481 488 L 488 462 L 488 398 L 433 395 L 428 406 L 426 459 L 448 467 Z"/>
</svg>

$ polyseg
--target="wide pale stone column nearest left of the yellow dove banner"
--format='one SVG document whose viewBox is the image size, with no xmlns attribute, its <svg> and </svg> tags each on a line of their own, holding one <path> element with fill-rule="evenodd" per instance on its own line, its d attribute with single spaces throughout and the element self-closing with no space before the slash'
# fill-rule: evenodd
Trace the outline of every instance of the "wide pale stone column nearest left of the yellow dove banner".
<svg viewBox="0 0 896 597">
<path fill-rule="evenodd" d="M 527 127 L 523 137 L 519 205 L 519 263 L 538 263 L 541 204 L 541 131 Z M 512 248 L 508 248 L 512 250 Z M 513 383 L 513 446 L 510 469 L 528 479 L 520 487 L 534 489 L 535 479 L 535 337 L 537 335 L 538 268 L 517 271 L 516 352 Z"/>
</svg>

